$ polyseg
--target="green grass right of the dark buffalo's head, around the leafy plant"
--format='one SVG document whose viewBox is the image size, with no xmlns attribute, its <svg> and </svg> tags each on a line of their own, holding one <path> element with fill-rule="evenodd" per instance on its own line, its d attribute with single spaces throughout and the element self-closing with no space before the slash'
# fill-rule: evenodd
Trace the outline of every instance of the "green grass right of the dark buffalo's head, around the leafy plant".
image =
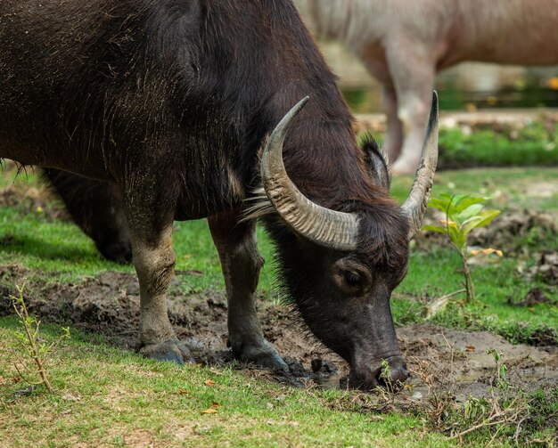
<svg viewBox="0 0 558 448">
<path fill-rule="evenodd" d="M 557 168 L 487 168 L 465 171 L 440 172 L 432 195 L 439 193 L 462 193 L 486 196 L 488 208 L 499 208 L 504 218 L 506 212 L 523 208 L 554 213 L 558 216 L 558 190 L 556 190 Z M 513 179 L 513 182 L 510 180 Z M 392 192 L 402 201 L 410 188 L 412 178 L 394 180 Z M 546 185 L 548 191 L 554 185 L 554 193 L 530 196 L 526 194 L 532 185 Z M 498 218 L 496 218 L 497 220 Z M 519 237 L 518 237 L 519 238 Z M 547 239 L 525 241 L 514 240 L 514 245 L 529 248 L 529 258 L 523 260 L 527 265 L 536 264 L 538 254 L 542 251 L 558 250 L 558 238 L 555 235 Z M 522 307 L 509 302 L 519 302 L 529 289 L 541 287 L 546 295 L 558 302 L 558 293 L 544 282 L 527 280 L 525 274 L 517 272 L 518 260 L 504 257 L 495 264 L 472 267 L 473 281 L 477 290 L 478 301 L 462 306 L 451 306 L 445 313 L 439 314 L 436 322 L 449 327 L 479 330 L 492 330 L 505 336 L 513 343 L 529 342 L 540 330 L 554 331 L 558 343 L 558 306 L 536 305 Z M 406 296 L 441 297 L 462 288 L 463 274 L 459 271 L 460 260 L 447 243 L 427 251 L 413 250 L 409 261 L 406 279 L 397 292 Z M 394 317 L 398 322 L 421 322 L 423 314 L 407 298 L 392 299 Z M 414 313 L 410 313 L 414 311 Z"/>
</svg>

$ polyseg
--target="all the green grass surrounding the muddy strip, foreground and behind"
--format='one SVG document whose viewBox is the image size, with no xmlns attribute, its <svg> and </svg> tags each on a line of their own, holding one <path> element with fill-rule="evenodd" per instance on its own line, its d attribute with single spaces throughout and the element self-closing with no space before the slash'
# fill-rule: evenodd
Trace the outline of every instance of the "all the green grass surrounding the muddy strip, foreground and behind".
<svg viewBox="0 0 558 448">
<path fill-rule="evenodd" d="M 0 207 L 0 267 L 21 265 L 29 277 L 49 284 L 80 282 L 106 271 L 133 273 L 98 256 L 94 244 L 73 224 L 61 219 L 60 205 L 48 199 L 32 171 L 14 180 L 14 171 L 0 176 L 4 207 Z M 433 195 L 472 193 L 490 198 L 505 219 L 529 209 L 558 216 L 558 168 L 488 168 L 445 171 L 436 177 Z M 411 178 L 393 183 L 397 200 L 406 198 Z M 5 200 L 12 197 L 16 200 Z M 47 198 L 45 200 L 45 198 Z M 0 202 L 2 204 L 2 202 Z M 274 289 L 272 249 L 267 235 L 258 231 L 259 248 L 267 259 L 260 278 L 263 297 L 278 301 Z M 424 322 L 425 305 L 461 289 L 459 259 L 443 242 L 419 238 L 409 273 L 392 299 L 398 325 Z M 518 251 L 517 248 L 521 250 Z M 224 282 L 217 252 L 204 221 L 176 223 L 176 268 L 195 271 L 183 286 L 184 295 L 208 289 L 222 291 Z M 558 250 L 556 234 L 540 229 L 518 234 L 508 241 L 505 257 L 473 266 L 478 300 L 464 304 L 455 296 L 434 318 L 448 328 L 490 330 L 513 343 L 534 343 L 544 335 L 558 344 L 558 294 L 554 285 L 526 272 L 543 252 Z M 521 269 L 520 269 L 521 267 Z M 0 270 L 0 273 L 2 271 Z M 540 288 L 547 303 L 518 306 L 529 290 Z M 9 275 L 0 275 L 0 293 L 15 292 Z M 431 410 L 401 412 L 377 405 L 373 395 L 316 387 L 284 387 L 261 371 L 229 368 L 178 368 L 145 360 L 111 346 L 102 337 L 73 331 L 69 342 L 49 355 L 47 366 L 55 389 L 48 395 L 38 387 L 21 393 L 12 362 L 20 359 L 11 347 L 18 324 L 13 316 L 0 318 L 0 446 L 452 446 L 447 426 L 432 419 Z M 45 326 L 44 338 L 53 338 L 55 326 Z M 554 343 L 552 342 L 554 340 Z M 211 380 L 214 384 L 206 381 Z M 546 420 L 558 415 L 558 387 L 530 392 L 529 419 L 521 444 L 553 446 L 553 428 Z M 201 414 L 213 409 L 217 412 Z M 461 414 L 460 414 L 461 415 Z M 467 428 L 465 418 L 454 428 Z M 553 420 L 554 419 L 554 420 Z M 453 421 L 453 420 L 452 420 Z M 538 422 L 538 423 L 537 423 Z M 488 427 L 464 436 L 463 442 L 513 445 L 515 426 Z M 553 442 L 554 440 L 554 442 Z"/>
</svg>

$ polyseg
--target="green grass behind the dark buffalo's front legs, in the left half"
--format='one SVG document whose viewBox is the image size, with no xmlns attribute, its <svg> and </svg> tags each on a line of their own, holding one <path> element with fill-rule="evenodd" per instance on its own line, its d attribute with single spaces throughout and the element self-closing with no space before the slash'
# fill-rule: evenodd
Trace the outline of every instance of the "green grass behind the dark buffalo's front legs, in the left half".
<svg viewBox="0 0 558 448">
<path fill-rule="evenodd" d="M 15 175 L 15 170 L 3 172 L 0 168 L 0 189 L 13 187 L 25 195 L 29 188 L 40 185 L 33 169 Z M 61 208 L 47 203 L 45 208 Z M 173 234 L 176 250 L 176 269 L 199 271 L 193 275 L 185 294 L 204 289 L 224 289 L 217 249 L 213 245 L 205 220 L 176 222 Z M 267 260 L 271 260 L 271 243 L 263 229 L 258 229 L 258 247 Z M 0 264 L 22 265 L 37 270 L 40 276 L 48 272 L 50 281 L 78 281 L 103 271 L 134 272 L 132 265 L 119 265 L 105 260 L 75 224 L 52 219 L 43 207 L 34 207 L 30 200 L 22 199 L 18 207 L 0 207 Z M 272 290 L 271 263 L 260 274 L 259 289 L 275 298 Z"/>
</svg>

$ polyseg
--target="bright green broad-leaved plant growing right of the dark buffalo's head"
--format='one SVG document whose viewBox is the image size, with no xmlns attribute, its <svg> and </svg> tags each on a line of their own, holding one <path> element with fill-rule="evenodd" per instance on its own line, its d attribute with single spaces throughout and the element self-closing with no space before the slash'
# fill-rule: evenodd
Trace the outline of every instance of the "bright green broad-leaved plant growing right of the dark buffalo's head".
<svg viewBox="0 0 558 448">
<path fill-rule="evenodd" d="M 502 257 L 502 252 L 494 248 L 469 251 L 467 247 L 469 232 L 477 227 L 489 224 L 500 214 L 500 210 L 484 209 L 483 202 L 485 201 L 486 198 L 474 197 L 469 194 L 455 194 L 452 196 L 442 193 L 438 198 L 430 200 L 429 207 L 438 208 L 446 215 L 446 218 L 441 220 L 441 225 L 429 224 L 423 226 L 423 230 L 447 234 L 452 246 L 461 257 L 468 302 L 474 300 L 475 290 L 467 260 L 480 253 L 496 253 L 496 255 Z"/>
</svg>

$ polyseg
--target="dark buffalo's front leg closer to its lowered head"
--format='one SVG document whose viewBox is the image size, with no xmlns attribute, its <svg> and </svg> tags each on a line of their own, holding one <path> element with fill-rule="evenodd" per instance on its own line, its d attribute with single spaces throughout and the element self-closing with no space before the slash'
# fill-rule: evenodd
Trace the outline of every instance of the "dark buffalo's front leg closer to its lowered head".
<svg viewBox="0 0 558 448">
<path fill-rule="evenodd" d="M 256 314 L 255 292 L 264 264 L 256 245 L 256 222 L 238 219 L 237 209 L 208 219 L 225 276 L 229 343 L 241 361 L 286 371 L 287 365 L 264 338 Z"/>
</svg>

